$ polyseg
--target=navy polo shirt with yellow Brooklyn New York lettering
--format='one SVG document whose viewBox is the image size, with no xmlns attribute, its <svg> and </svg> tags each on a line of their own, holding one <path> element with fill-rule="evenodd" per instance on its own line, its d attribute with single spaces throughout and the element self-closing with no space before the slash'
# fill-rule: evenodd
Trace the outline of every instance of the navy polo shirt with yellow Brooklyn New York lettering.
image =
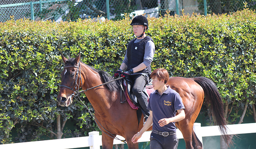
<svg viewBox="0 0 256 149">
<path fill-rule="evenodd" d="M 160 127 L 158 121 L 162 118 L 175 117 L 177 110 L 185 109 L 180 94 L 170 87 L 160 95 L 158 90 L 150 94 L 148 110 L 153 112 L 153 129 L 157 131 L 176 131 L 175 122 Z"/>
</svg>

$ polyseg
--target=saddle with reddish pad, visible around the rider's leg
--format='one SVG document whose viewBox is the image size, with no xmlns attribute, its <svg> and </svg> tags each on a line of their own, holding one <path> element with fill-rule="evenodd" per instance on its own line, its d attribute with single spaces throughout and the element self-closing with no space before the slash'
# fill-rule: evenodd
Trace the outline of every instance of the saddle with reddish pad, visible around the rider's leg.
<svg viewBox="0 0 256 149">
<path fill-rule="evenodd" d="M 129 79 L 123 79 L 122 85 L 124 88 L 124 94 L 127 102 L 130 104 L 131 108 L 138 110 L 139 102 L 137 101 L 137 97 L 132 92 L 133 83 Z M 153 92 L 152 80 L 150 79 L 149 83 L 143 88 L 142 92 L 148 97 L 150 97 L 150 93 Z"/>
</svg>

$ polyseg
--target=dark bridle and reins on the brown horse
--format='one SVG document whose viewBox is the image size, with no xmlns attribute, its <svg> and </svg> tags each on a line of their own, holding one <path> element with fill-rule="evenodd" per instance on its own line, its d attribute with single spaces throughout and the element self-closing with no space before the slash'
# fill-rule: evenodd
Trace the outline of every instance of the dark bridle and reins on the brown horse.
<svg viewBox="0 0 256 149">
<path fill-rule="evenodd" d="M 79 91 L 79 88 L 77 88 L 77 86 L 79 87 L 80 81 L 81 81 L 81 86 L 83 86 L 82 78 L 81 78 L 81 66 L 80 66 L 80 62 L 78 63 L 78 66 L 64 66 L 64 69 L 65 69 L 65 68 L 70 68 L 70 67 L 78 68 L 77 71 L 76 71 L 76 79 L 74 80 L 74 83 L 73 83 L 74 85 L 73 85 L 72 88 L 70 88 L 69 86 L 65 86 L 65 85 L 60 85 L 60 87 L 68 88 L 69 90 L 74 91 L 74 93 L 73 93 L 72 95 L 73 95 L 73 96 L 77 96 L 78 98 L 79 98 L 78 94 L 81 93 L 81 92 L 86 92 L 86 91 L 88 91 L 88 90 L 90 90 L 90 89 L 97 88 L 97 87 L 99 87 L 99 86 L 108 84 L 108 83 L 110 83 L 110 82 L 123 79 L 123 77 L 119 77 L 119 78 L 117 78 L 117 79 L 114 79 L 114 80 L 108 81 L 108 82 L 106 82 L 106 83 L 103 83 L 103 84 L 94 86 L 94 87 L 92 87 L 92 88 L 87 88 L 86 90 Z M 79 83 L 77 83 L 78 74 L 79 74 Z M 75 90 L 73 89 L 74 87 L 75 87 Z M 122 98 L 122 97 L 121 97 L 121 98 Z M 76 100 L 78 101 L 78 99 L 76 99 Z M 97 118 L 94 117 L 94 115 L 91 113 L 91 111 L 89 110 L 89 108 L 85 105 L 85 103 L 84 103 L 80 98 L 79 98 L 79 101 L 78 101 L 78 102 L 80 102 L 81 104 L 83 104 L 83 105 L 85 106 L 85 108 L 89 111 L 90 115 L 92 116 L 92 118 L 93 118 L 94 121 L 96 122 Z M 121 101 L 121 103 L 122 103 L 122 101 Z M 100 125 L 106 132 L 108 132 L 108 133 L 109 133 L 110 135 L 112 135 L 112 136 L 110 136 L 110 135 L 108 135 L 106 132 L 102 131 L 102 129 L 100 129 L 100 127 L 98 126 L 97 122 L 99 123 L 99 125 Z M 106 135 L 108 135 L 110 138 L 114 138 L 114 139 L 120 140 L 121 142 L 126 143 L 126 140 L 121 140 L 121 139 L 117 138 L 115 135 L 113 135 L 112 133 L 110 133 L 109 131 L 107 131 L 107 130 L 101 125 L 101 123 L 99 122 L 99 120 L 97 120 L 97 122 L 96 122 L 96 125 L 99 127 L 99 129 L 100 129 L 103 133 L 105 133 Z"/>
</svg>

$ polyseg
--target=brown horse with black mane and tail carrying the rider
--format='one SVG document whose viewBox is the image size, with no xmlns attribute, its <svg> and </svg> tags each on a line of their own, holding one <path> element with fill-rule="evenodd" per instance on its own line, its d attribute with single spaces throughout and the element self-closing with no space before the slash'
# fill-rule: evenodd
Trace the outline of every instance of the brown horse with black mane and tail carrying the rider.
<svg viewBox="0 0 256 149">
<path fill-rule="evenodd" d="M 69 106 L 80 87 L 86 90 L 113 80 L 106 72 L 97 71 L 80 62 L 80 54 L 76 58 L 70 59 L 62 55 L 62 59 L 65 66 L 61 73 L 61 87 L 57 97 L 60 106 Z M 170 77 L 167 84 L 180 94 L 186 108 L 186 118 L 176 122 L 176 126 L 182 132 L 186 142 L 186 149 L 202 149 L 202 143 L 193 131 L 193 124 L 200 112 L 204 97 L 211 105 L 214 119 L 225 140 L 229 141 L 229 136 L 226 135 L 222 99 L 211 80 L 205 77 Z M 141 121 L 138 125 L 136 110 L 132 109 L 127 102 L 120 103 L 121 99 L 125 100 L 125 96 L 120 94 L 118 83 L 113 81 L 87 90 L 85 95 L 94 108 L 97 125 L 104 131 L 102 133 L 103 149 L 113 148 L 114 138 L 112 136 L 116 135 L 123 136 L 130 149 L 138 149 L 138 144 L 133 144 L 131 139 L 143 124 Z"/>
</svg>

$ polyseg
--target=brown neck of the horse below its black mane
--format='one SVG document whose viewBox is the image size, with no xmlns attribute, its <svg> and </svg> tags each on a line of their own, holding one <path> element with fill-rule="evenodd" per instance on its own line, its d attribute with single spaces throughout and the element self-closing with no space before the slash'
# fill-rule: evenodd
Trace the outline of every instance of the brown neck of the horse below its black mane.
<svg viewBox="0 0 256 149">
<path fill-rule="evenodd" d="M 83 81 L 83 90 L 103 84 L 98 72 L 84 64 L 81 64 L 81 76 Z M 110 93 L 104 85 L 87 90 L 85 95 L 95 111 L 104 111 L 105 108 L 110 108 L 113 102 L 113 98 L 111 99 L 111 97 L 109 97 Z"/>
</svg>

